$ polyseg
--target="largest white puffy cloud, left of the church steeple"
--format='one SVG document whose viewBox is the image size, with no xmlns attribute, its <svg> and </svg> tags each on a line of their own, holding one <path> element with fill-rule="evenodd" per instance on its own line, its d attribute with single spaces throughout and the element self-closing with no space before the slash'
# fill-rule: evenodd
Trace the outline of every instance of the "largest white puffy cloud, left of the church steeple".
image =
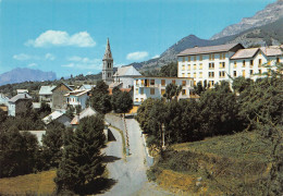
<svg viewBox="0 0 283 196">
<path fill-rule="evenodd" d="M 51 46 L 94 47 L 96 46 L 96 41 L 87 32 L 79 32 L 71 36 L 62 30 L 47 30 L 39 35 L 35 40 L 27 40 L 25 45 L 35 48 Z"/>
</svg>

